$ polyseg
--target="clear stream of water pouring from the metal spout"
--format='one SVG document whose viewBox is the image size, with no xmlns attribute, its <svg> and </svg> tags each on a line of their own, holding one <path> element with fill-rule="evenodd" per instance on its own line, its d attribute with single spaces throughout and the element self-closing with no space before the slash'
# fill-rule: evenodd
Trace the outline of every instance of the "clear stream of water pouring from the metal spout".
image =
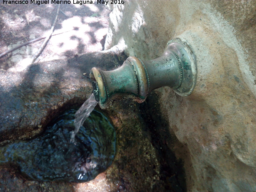
<svg viewBox="0 0 256 192">
<path fill-rule="evenodd" d="M 75 142 L 76 133 L 78 133 L 79 128 L 83 125 L 85 119 L 92 113 L 93 109 L 97 105 L 97 101 L 93 94 L 84 102 L 84 104 L 76 111 L 75 114 L 75 130 L 71 133 L 70 142 Z"/>
</svg>

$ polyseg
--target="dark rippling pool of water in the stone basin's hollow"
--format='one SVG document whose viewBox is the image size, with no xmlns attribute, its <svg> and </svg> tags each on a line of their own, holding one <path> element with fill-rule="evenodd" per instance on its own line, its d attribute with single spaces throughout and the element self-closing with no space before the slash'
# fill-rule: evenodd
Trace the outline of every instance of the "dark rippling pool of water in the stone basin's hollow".
<svg viewBox="0 0 256 192">
<path fill-rule="evenodd" d="M 27 141 L 0 148 L 0 165 L 17 166 L 31 180 L 85 182 L 112 163 L 116 133 L 108 118 L 94 110 L 70 142 L 75 109 L 59 116 L 45 132 Z"/>
</svg>

